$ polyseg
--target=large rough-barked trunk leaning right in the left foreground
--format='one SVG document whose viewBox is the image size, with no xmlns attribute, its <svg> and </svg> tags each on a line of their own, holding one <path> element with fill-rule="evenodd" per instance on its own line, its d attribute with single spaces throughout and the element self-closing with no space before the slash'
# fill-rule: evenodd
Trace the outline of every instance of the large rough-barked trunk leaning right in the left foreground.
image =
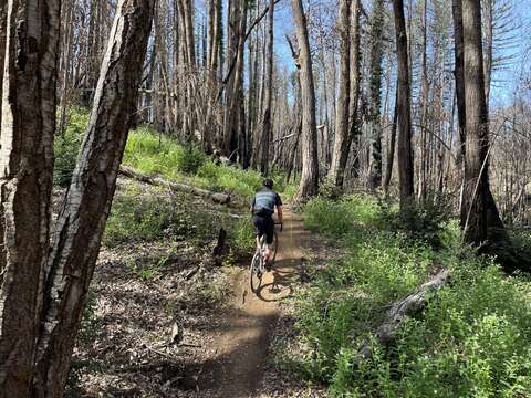
<svg viewBox="0 0 531 398">
<path fill-rule="evenodd" d="M 60 397 L 77 333 L 131 122 L 155 0 L 122 0 L 97 83 L 80 160 L 59 212 L 46 265 L 35 397 Z"/>
</svg>

